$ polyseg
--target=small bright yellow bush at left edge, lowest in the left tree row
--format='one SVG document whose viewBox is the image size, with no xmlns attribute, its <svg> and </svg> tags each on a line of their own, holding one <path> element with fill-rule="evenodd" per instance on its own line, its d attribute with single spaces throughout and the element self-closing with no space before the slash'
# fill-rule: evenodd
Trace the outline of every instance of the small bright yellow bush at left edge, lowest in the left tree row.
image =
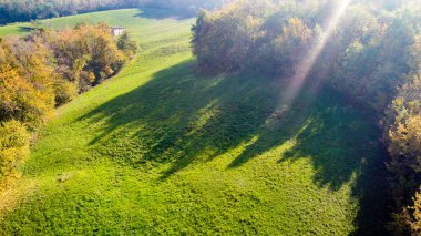
<svg viewBox="0 0 421 236">
<path fill-rule="evenodd" d="M 18 165 L 29 156 L 30 135 L 18 121 L 0 125 L 0 189 L 10 184 L 19 174 Z"/>
</svg>

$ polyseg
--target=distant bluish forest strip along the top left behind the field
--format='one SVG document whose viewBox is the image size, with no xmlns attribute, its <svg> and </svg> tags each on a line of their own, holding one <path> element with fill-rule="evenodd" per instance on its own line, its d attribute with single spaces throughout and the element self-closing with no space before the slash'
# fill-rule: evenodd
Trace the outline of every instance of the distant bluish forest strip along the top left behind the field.
<svg viewBox="0 0 421 236">
<path fill-rule="evenodd" d="M 0 0 L 0 24 L 84 12 L 151 7 L 193 17 L 201 8 L 215 9 L 233 0 Z"/>
</svg>

